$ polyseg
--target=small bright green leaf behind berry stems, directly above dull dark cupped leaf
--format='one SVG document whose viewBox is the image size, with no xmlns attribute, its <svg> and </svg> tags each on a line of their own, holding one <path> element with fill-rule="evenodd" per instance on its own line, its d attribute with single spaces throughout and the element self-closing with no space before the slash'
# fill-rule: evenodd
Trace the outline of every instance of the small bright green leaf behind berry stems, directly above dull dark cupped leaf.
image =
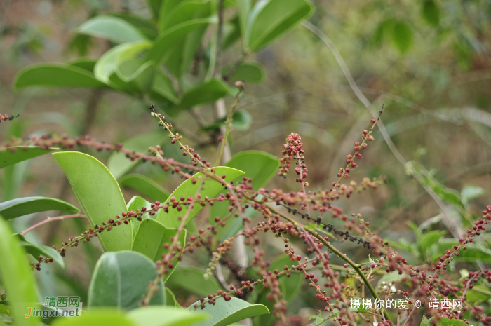
<svg viewBox="0 0 491 326">
<path fill-rule="evenodd" d="M 172 243 L 172 240 L 170 239 L 175 238 L 176 234 L 177 229 L 168 229 L 155 219 L 142 219 L 131 250 L 140 252 L 156 262 L 161 260 L 162 255 L 167 254 L 169 251 L 163 247 L 163 244 L 168 243 L 170 245 L 170 243 Z M 185 229 L 179 235 L 178 245 L 181 245 L 183 248 L 186 245 Z M 175 271 L 175 267 L 179 264 L 179 258 L 174 259 L 172 263 L 174 264 L 174 268 L 170 269 L 169 273 L 163 277 L 163 282 L 165 282 L 173 271 Z"/>
</svg>

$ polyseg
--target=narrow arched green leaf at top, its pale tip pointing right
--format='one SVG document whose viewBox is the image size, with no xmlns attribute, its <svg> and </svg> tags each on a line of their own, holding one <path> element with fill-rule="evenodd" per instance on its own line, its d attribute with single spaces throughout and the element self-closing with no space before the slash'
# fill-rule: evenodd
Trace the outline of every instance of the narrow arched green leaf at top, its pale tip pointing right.
<svg viewBox="0 0 491 326">
<path fill-rule="evenodd" d="M 210 23 L 217 22 L 216 17 L 199 18 L 186 22 L 167 29 L 162 32 L 154 41 L 154 46 L 149 50 L 146 60 L 153 60 L 156 64 L 161 64 L 166 60 L 175 49 L 175 46 L 184 39 L 184 37 L 196 28 L 206 26 Z"/>
</svg>

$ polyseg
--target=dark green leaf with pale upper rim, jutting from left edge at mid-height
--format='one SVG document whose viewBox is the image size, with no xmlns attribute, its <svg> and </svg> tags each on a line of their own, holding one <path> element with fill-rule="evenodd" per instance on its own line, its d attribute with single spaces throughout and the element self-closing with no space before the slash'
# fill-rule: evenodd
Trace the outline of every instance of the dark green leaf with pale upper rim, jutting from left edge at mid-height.
<svg viewBox="0 0 491 326">
<path fill-rule="evenodd" d="M 66 201 L 46 197 L 16 198 L 0 203 L 0 215 L 5 219 L 13 219 L 37 212 L 48 212 L 49 210 L 80 211 Z"/>
</svg>

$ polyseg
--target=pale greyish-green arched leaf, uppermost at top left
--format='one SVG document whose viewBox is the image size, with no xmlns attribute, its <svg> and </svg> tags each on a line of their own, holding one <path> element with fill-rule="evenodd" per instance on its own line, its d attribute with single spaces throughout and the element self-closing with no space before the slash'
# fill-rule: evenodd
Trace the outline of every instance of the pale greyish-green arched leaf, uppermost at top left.
<svg viewBox="0 0 491 326">
<path fill-rule="evenodd" d="M 116 43 L 146 39 L 133 25 L 121 18 L 112 16 L 97 16 L 86 20 L 75 32 L 100 37 Z"/>
</svg>

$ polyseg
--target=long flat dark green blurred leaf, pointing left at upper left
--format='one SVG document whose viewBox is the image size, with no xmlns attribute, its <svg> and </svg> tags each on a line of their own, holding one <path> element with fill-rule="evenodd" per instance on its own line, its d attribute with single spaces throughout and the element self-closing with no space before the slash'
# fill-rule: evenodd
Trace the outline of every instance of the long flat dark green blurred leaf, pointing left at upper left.
<svg viewBox="0 0 491 326">
<path fill-rule="evenodd" d="M 88 87 L 107 88 L 94 74 L 69 64 L 32 64 L 15 77 L 14 87 Z"/>
</svg>

